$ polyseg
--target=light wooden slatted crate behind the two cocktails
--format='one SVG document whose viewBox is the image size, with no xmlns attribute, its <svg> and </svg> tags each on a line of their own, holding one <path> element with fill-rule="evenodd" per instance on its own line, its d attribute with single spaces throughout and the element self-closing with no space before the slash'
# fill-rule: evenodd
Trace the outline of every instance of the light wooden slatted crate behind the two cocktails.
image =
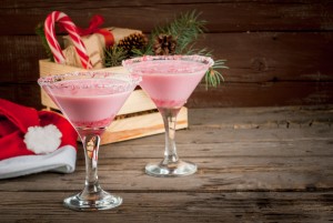
<svg viewBox="0 0 333 223">
<path fill-rule="evenodd" d="M 105 68 L 103 71 L 127 73 L 122 67 Z M 39 61 L 40 77 L 54 75 L 74 71 L 87 71 L 84 69 L 58 64 L 49 60 Z M 47 110 L 59 111 L 58 107 L 41 91 L 41 103 Z M 178 115 L 176 129 L 188 128 L 188 109 L 182 108 Z M 107 128 L 102 135 L 102 144 L 131 140 L 135 138 L 152 135 L 164 132 L 163 120 L 157 107 L 142 90 L 134 90 L 124 105 L 119 111 L 115 120 Z"/>
</svg>

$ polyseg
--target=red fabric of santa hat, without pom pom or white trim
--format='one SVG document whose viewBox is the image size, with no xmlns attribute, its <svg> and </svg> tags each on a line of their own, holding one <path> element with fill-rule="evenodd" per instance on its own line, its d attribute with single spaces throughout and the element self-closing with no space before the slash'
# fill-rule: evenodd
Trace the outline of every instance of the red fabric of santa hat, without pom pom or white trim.
<svg viewBox="0 0 333 223">
<path fill-rule="evenodd" d="M 37 111 L 0 99 L 0 160 L 34 154 L 23 142 L 29 126 L 54 124 L 62 133 L 61 144 L 77 149 L 78 134 L 72 125 L 60 114 L 50 111 Z"/>
</svg>

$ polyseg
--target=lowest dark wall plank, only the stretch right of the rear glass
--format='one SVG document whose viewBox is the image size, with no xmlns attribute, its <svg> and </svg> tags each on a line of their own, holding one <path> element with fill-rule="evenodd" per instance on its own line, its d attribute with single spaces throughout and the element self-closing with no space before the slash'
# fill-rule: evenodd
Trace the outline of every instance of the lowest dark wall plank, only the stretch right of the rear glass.
<svg viewBox="0 0 333 223">
<path fill-rule="evenodd" d="M 224 83 L 215 89 L 200 84 L 189 108 L 283 107 L 332 104 L 332 82 Z"/>
</svg>

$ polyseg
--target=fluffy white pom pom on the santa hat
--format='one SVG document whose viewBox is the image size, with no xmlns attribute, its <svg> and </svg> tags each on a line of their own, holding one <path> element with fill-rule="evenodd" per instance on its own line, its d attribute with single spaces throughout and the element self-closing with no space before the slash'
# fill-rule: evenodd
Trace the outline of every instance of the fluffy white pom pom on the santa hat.
<svg viewBox="0 0 333 223">
<path fill-rule="evenodd" d="M 36 154 L 50 153 L 61 144 L 61 132 L 54 124 L 30 126 L 24 135 L 28 150 Z"/>
</svg>

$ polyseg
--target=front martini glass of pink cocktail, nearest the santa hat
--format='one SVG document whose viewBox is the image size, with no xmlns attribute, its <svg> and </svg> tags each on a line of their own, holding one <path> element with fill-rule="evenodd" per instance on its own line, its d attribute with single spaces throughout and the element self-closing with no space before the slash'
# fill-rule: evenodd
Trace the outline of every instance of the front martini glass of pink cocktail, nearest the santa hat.
<svg viewBox="0 0 333 223">
<path fill-rule="evenodd" d="M 99 184 L 98 152 L 101 134 L 139 82 L 140 77 L 104 71 L 65 73 L 38 80 L 75 128 L 84 149 L 84 187 L 64 199 L 64 206 L 75 211 L 95 211 L 122 203 L 121 196 L 103 191 Z"/>
</svg>

